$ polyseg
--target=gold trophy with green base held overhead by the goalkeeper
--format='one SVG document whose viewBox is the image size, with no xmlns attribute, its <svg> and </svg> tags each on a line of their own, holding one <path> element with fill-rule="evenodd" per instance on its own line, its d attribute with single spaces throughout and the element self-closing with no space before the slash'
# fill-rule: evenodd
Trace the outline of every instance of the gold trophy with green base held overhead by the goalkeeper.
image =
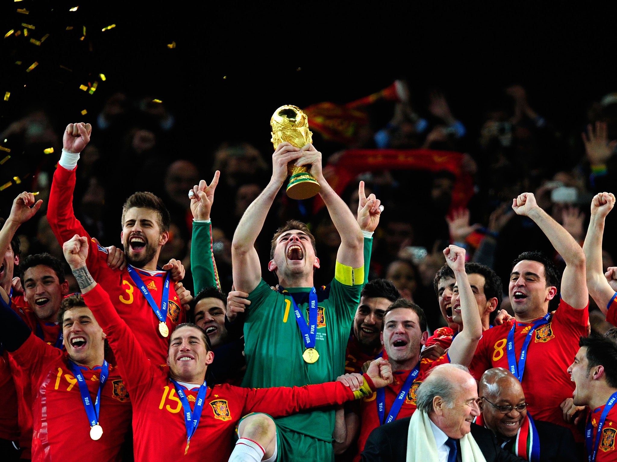
<svg viewBox="0 0 617 462">
<path fill-rule="evenodd" d="M 296 106 L 284 105 L 274 111 L 270 126 L 271 142 L 275 149 L 283 142 L 297 148 L 313 142 L 313 134 L 309 131 L 309 118 Z M 315 177 L 309 173 L 309 167 L 289 163 L 287 171 L 290 175 L 287 195 L 292 199 L 308 199 L 321 189 Z"/>
</svg>

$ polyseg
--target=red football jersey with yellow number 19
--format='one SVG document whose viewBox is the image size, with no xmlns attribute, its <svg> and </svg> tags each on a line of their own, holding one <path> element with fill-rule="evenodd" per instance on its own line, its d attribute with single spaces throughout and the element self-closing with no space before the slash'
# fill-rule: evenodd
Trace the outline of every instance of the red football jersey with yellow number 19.
<svg viewBox="0 0 617 462">
<path fill-rule="evenodd" d="M 101 391 L 101 439 L 90 438 L 90 425 L 81 401 L 77 379 L 68 367 L 65 351 L 41 341 L 34 334 L 10 353 L 30 373 L 33 396 L 33 461 L 67 461 L 79 454 L 96 454 L 101 461 L 120 461 L 120 449 L 131 423 L 131 402 L 118 368 L 109 366 Z M 81 368 L 91 398 L 96 399 L 101 369 Z"/>
</svg>

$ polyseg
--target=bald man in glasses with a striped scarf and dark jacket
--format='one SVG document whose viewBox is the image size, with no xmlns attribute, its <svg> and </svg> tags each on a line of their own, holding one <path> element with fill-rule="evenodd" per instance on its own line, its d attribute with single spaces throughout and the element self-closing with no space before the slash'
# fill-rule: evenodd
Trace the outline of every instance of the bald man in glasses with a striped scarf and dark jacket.
<svg viewBox="0 0 617 462">
<path fill-rule="evenodd" d="M 479 396 L 482 414 L 475 423 L 491 430 L 505 450 L 530 462 L 582 460 L 568 429 L 529 415 L 523 386 L 507 369 L 487 370 Z"/>
</svg>

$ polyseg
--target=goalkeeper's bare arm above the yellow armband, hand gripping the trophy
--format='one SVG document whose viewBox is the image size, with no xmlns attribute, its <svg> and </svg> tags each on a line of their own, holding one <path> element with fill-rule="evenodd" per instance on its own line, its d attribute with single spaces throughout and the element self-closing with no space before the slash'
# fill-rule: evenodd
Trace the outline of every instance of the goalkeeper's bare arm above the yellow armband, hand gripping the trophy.
<svg viewBox="0 0 617 462">
<path fill-rule="evenodd" d="M 351 213 L 346 203 L 334 192 L 333 188 L 328 184 L 321 170 L 321 153 L 313 147 L 312 144 L 307 144 L 300 149 L 302 157 L 297 161 L 297 165 L 311 166 L 310 174 L 312 174 L 321 186 L 319 195 L 330 214 L 330 218 L 336 227 L 336 230 L 341 236 L 341 246 L 336 254 L 336 261 L 350 266 L 352 268 L 362 268 L 364 265 L 363 247 L 364 240 L 360 225 L 357 219 Z M 375 195 L 367 201 L 365 208 L 366 214 L 369 209 L 376 206 Z M 379 208 L 379 206 L 376 206 Z M 237 285 L 236 285 L 237 287 Z"/>
</svg>

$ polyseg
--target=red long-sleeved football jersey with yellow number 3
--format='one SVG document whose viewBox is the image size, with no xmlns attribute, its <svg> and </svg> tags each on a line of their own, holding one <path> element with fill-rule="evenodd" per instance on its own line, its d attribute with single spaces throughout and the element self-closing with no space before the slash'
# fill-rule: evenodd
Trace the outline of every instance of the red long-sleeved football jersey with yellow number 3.
<svg viewBox="0 0 617 462">
<path fill-rule="evenodd" d="M 48 221 L 60 245 L 70 240 L 75 234 L 87 236 L 81 223 L 73 213 L 73 190 L 75 189 L 75 170 L 69 171 L 58 166 L 49 195 Z M 112 270 L 107 266 L 107 250 L 90 241 L 88 270 L 94 280 L 101 284 L 114 304 L 120 317 L 139 337 L 141 347 L 147 357 L 155 364 L 164 365 L 167 359 L 168 338 L 159 333 L 159 319 L 154 314 L 143 293 L 125 270 Z M 163 286 L 167 272 L 147 272 L 139 270 L 139 276 L 160 306 Z M 167 327 L 173 332 L 178 324 L 186 322 L 186 313 L 180 306 L 178 295 L 170 282 L 169 302 L 167 307 Z"/>
</svg>

